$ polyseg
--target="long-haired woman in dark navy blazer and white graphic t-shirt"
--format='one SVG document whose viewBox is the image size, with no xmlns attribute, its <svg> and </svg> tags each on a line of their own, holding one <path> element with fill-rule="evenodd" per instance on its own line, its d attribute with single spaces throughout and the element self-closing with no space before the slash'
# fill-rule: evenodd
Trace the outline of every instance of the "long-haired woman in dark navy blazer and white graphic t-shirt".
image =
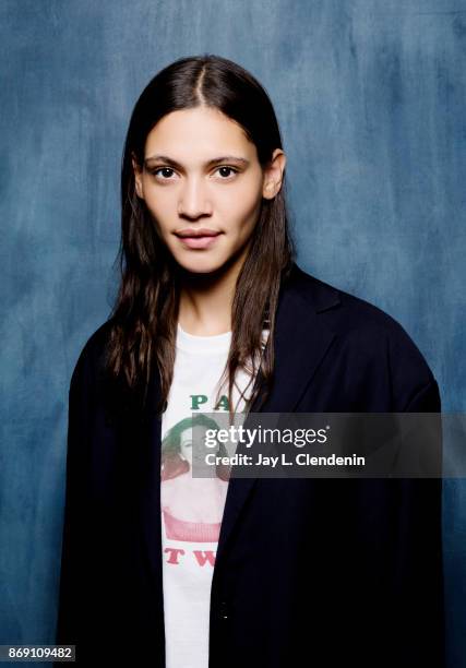
<svg viewBox="0 0 466 668">
<path fill-rule="evenodd" d="M 121 287 L 70 385 L 57 642 L 80 665 L 443 665 L 440 480 L 231 478 L 214 558 L 164 542 L 162 441 L 193 413 L 440 410 L 401 325 L 295 263 L 285 166 L 231 61 L 178 60 L 135 105 Z"/>
</svg>

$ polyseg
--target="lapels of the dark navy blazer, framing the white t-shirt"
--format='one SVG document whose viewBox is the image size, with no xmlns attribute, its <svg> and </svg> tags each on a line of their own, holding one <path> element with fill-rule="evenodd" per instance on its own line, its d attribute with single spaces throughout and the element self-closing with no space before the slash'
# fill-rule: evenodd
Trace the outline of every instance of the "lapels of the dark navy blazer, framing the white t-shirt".
<svg viewBox="0 0 466 668">
<path fill-rule="evenodd" d="M 294 263 L 288 279 L 282 285 L 275 323 L 274 382 L 268 398 L 258 409 L 254 402 L 251 413 L 292 413 L 307 386 L 328 351 L 336 334 L 324 326 L 319 313 L 339 303 L 338 290 L 310 276 Z M 256 383 L 261 383 L 261 372 Z M 159 392 L 158 380 L 150 386 L 150 405 L 155 405 Z M 248 419 L 244 422 L 247 427 Z M 142 474 L 141 514 L 148 558 L 154 576 L 160 568 L 160 429 L 162 421 L 155 415 L 148 420 L 144 440 L 147 450 Z M 240 451 L 240 449 L 238 450 Z M 145 480 L 145 482 L 144 482 Z M 216 566 L 222 562 L 232 528 L 238 522 L 256 478 L 230 478 L 220 535 L 216 553 Z"/>
</svg>

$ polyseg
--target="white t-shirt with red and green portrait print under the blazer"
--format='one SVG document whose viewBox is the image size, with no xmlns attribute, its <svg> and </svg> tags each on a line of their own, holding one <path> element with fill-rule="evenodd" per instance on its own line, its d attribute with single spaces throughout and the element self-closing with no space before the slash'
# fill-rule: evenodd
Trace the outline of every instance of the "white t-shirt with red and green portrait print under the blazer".
<svg viewBox="0 0 466 668">
<path fill-rule="evenodd" d="M 263 345 L 267 330 L 263 332 Z M 178 323 L 174 380 L 162 420 L 162 551 L 166 668 L 207 668 L 211 585 L 228 478 L 194 478 L 193 414 L 228 413 L 225 382 L 214 405 L 228 357 L 231 332 L 194 336 Z M 251 380 L 237 373 L 234 407 Z M 246 397 L 253 387 L 250 383 Z M 203 419 L 200 416 L 200 419 Z M 206 416 L 204 419 L 208 419 Z M 207 425 L 212 427 L 212 425 Z M 225 479 L 223 479 L 225 478 Z"/>
</svg>

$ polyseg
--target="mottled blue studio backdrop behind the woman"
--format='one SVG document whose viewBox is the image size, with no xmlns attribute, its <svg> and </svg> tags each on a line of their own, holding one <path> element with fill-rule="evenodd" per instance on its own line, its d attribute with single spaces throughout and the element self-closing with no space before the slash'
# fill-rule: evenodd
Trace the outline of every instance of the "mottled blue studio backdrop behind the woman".
<svg viewBox="0 0 466 668">
<path fill-rule="evenodd" d="M 288 155 L 298 262 L 380 306 L 466 410 L 466 2 L 2 0 L 0 643 L 51 643 L 70 375 L 107 319 L 132 107 L 172 60 L 249 69 Z M 444 494 L 466 666 L 466 485 Z"/>
</svg>

